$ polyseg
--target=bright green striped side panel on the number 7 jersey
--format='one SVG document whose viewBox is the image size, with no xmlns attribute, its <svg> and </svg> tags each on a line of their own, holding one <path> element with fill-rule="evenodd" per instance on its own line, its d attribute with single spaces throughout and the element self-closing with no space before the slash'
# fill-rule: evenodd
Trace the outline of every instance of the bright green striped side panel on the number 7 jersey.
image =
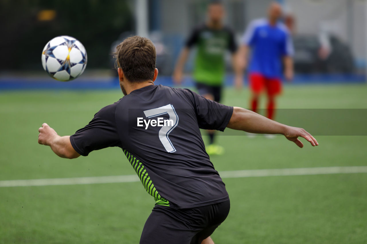
<svg viewBox="0 0 367 244">
<path fill-rule="evenodd" d="M 148 173 L 146 172 L 144 165 L 140 162 L 139 159 L 135 158 L 130 152 L 123 149 L 124 154 L 127 157 L 127 160 L 130 161 L 131 166 L 134 168 L 135 172 L 138 174 L 140 181 L 143 183 L 145 191 L 149 193 L 149 195 L 154 197 L 156 201 L 156 205 L 170 206 L 170 202 L 164 199 L 159 195 L 157 189 L 155 188 L 153 181 L 150 180 Z"/>
</svg>

